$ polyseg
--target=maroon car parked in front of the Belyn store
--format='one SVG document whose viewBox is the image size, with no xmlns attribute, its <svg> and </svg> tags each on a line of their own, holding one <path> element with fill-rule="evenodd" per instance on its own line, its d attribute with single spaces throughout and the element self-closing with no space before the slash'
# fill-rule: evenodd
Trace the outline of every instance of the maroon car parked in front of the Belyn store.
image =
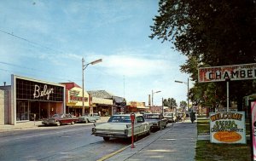
<svg viewBox="0 0 256 161">
<path fill-rule="evenodd" d="M 79 118 L 73 117 L 71 114 L 54 114 L 51 118 L 44 118 L 42 124 L 44 125 L 57 125 L 61 124 L 75 124 Z"/>
</svg>

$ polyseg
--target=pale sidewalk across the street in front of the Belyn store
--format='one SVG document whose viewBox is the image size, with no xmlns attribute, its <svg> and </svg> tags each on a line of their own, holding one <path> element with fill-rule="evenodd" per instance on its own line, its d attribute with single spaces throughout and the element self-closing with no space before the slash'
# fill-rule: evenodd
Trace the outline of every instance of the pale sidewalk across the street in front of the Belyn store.
<svg viewBox="0 0 256 161">
<path fill-rule="evenodd" d="M 109 117 L 101 117 L 97 123 L 107 122 Z M 15 125 L 11 124 L 3 124 L 0 125 L 0 133 L 7 132 L 11 130 L 21 130 L 21 129 L 38 129 L 39 126 L 42 126 L 42 121 L 27 121 L 27 122 L 20 122 Z"/>
</svg>

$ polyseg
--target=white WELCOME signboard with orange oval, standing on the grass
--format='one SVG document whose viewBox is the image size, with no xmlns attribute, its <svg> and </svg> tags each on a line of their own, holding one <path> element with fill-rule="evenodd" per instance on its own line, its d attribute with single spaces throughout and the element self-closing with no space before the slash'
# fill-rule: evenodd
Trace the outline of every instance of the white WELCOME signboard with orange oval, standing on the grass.
<svg viewBox="0 0 256 161">
<path fill-rule="evenodd" d="M 211 112 L 210 141 L 246 144 L 245 112 Z"/>
</svg>

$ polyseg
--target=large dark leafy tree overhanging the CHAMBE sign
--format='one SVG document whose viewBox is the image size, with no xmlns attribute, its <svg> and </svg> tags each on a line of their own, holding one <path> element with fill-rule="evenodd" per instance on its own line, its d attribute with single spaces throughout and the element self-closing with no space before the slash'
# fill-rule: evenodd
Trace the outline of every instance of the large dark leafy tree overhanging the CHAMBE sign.
<svg viewBox="0 0 256 161">
<path fill-rule="evenodd" d="M 188 57 L 181 71 L 190 74 L 194 103 L 224 103 L 225 83 L 197 83 L 201 66 L 228 66 L 256 61 L 256 1 L 160 0 L 151 38 L 174 43 Z M 253 81 L 230 83 L 230 99 L 253 92 Z M 243 87 L 243 88 L 236 88 Z M 205 99 L 207 98 L 207 99 Z"/>
</svg>

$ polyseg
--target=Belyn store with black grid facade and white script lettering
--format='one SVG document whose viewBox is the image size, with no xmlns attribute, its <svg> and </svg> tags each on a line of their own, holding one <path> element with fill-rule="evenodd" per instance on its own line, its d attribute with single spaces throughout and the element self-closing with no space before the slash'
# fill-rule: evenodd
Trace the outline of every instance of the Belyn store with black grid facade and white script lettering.
<svg viewBox="0 0 256 161">
<path fill-rule="evenodd" d="M 49 118 L 65 112 L 65 85 L 12 75 L 4 103 L 7 124 Z"/>
</svg>

